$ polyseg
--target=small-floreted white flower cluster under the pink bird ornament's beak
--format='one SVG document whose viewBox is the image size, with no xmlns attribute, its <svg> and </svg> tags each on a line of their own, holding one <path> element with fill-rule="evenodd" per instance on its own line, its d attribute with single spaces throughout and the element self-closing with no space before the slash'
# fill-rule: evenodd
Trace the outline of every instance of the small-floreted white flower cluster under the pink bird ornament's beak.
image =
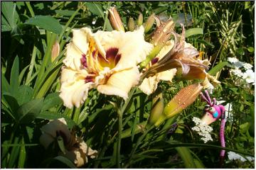
<svg viewBox="0 0 256 170">
<path fill-rule="evenodd" d="M 200 118 L 193 117 L 192 120 L 196 123 L 196 126 L 194 126 L 192 130 L 198 132 L 198 135 L 201 136 L 201 140 L 205 143 L 209 140 L 213 141 L 213 138 L 210 136 L 210 132 L 213 131 L 213 128 L 203 123 Z"/>
</svg>

